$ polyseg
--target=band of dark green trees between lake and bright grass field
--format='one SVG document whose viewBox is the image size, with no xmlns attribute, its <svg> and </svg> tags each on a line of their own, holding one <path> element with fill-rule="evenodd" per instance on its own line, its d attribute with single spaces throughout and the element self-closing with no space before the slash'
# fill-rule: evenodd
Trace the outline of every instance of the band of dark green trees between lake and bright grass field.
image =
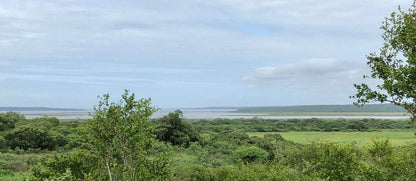
<svg viewBox="0 0 416 181">
<path fill-rule="evenodd" d="M 214 119 L 190 121 L 200 132 L 244 130 L 246 132 L 287 132 L 287 131 L 377 131 L 382 129 L 412 129 L 410 121 L 381 119 Z"/>
</svg>

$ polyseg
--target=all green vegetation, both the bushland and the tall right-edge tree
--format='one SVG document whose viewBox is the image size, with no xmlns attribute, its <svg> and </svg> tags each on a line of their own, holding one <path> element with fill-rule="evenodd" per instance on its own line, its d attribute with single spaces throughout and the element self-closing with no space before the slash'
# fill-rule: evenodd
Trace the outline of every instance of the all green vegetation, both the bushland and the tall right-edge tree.
<svg viewBox="0 0 416 181">
<path fill-rule="evenodd" d="M 416 5 L 412 8 L 386 19 L 385 44 L 379 54 L 368 56 L 369 77 L 383 84 L 377 91 L 355 85 L 353 97 L 357 104 L 402 106 L 415 122 Z M 302 142 L 288 136 L 309 138 L 308 133 L 319 132 L 336 138 L 350 134 L 351 140 L 351 133 L 407 134 L 415 128 L 409 121 L 184 120 L 179 110 L 151 120 L 156 111 L 151 100 L 128 91 L 118 102 L 102 96 L 94 110 L 92 119 L 72 122 L 0 113 L 1 180 L 416 179 L 414 143 Z"/>
</svg>

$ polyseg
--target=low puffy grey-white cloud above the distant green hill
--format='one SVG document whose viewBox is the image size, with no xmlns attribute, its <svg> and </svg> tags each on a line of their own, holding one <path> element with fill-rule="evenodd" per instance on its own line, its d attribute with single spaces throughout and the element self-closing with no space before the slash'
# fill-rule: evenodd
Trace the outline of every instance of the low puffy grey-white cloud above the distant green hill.
<svg viewBox="0 0 416 181">
<path fill-rule="evenodd" d="M 295 88 L 352 86 L 360 81 L 367 72 L 365 64 L 357 61 L 341 61 L 331 58 L 308 59 L 282 66 L 267 66 L 255 69 L 254 75 L 245 76 L 243 80 L 250 87 L 280 85 Z"/>
</svg>

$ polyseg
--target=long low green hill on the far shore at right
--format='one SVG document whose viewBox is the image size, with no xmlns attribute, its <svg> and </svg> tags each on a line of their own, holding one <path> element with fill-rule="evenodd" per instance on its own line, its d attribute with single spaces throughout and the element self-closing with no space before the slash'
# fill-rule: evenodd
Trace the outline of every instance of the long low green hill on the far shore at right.
<svg viewBox="0 0 416 181">
<path fill-rule="evenodd" d="M 238 112 L 269 113 L 269 112 L 406 112 L 405 109 L 393 104 L 369 104 L 363 107 L 355 105 L 307 105 L 307 106 L 266 106 L 238 108 Z"/>
</svg>

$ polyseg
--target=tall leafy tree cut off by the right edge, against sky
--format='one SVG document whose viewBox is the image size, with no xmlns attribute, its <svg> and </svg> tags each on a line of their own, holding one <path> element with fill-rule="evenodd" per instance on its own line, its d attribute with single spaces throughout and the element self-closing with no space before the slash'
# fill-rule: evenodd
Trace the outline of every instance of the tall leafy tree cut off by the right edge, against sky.
<svg viewBox="0 0 416 181">
<path fill-rule="evenodd" d="M 355 84 L 356 105 L 369 102 L 388 102 L 406 109 L 416 122 L 416 1 L 407 11 L 398 8 L 386 17 L 380 27 L 384 33 L 379 53 L 367 56 L 371 68 L 364 78 L 381 80 L 370 88 L 365 83 Z"/>
</svg>

